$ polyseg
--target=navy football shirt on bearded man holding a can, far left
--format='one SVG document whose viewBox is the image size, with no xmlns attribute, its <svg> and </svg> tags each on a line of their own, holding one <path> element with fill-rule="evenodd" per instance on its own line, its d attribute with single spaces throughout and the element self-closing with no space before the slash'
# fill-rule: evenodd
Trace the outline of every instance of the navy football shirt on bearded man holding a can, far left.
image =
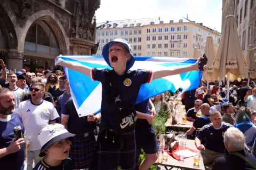
<svg viewBox="0 0 256 170">
<path fill-rule="evenodd" d="M 25 128 L 22 124 L 20 115 L 13 113 L 8 115 L 7 119 L 0 118 L 0 149 L 6 148 L 14 138 L 13 128 L 21 126 L 22 134 L 25 134 Z M 18 152 L 10 153 L 0 159 L 0 169 L 17 169 L 23 170 L 25 159 L 25 145 L 22 144 Z"/>
</svg>

